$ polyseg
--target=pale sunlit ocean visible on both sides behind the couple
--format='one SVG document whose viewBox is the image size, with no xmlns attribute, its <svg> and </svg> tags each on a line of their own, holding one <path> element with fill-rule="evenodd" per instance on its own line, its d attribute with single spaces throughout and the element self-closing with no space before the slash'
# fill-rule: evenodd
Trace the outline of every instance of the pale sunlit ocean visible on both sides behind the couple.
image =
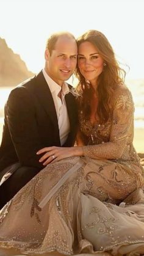
<svg viewBox="0 0 144 256">
<path fill-rule="evenodd" d="M 135 104 L 134 126 L 144 128 L 144 79 L 126 81 Z M 0 123 L 4 119 L 4 104 L 12 87 L 0 87 Z"/>
</svg>

